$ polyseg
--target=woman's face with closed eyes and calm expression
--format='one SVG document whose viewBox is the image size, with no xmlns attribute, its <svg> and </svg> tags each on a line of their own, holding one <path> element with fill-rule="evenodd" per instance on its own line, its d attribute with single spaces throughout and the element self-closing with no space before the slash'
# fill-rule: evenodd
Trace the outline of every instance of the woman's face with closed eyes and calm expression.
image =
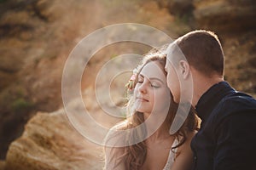
<svg viewBox="0 0 256 170">
<path fill-rule="evenodd" d="M 148 114 L 168 111 L 171 94 L 163 69 L 158 61 L 150 61 L 143 67 L 134 89 L 136 111 Z"/>
</svg>

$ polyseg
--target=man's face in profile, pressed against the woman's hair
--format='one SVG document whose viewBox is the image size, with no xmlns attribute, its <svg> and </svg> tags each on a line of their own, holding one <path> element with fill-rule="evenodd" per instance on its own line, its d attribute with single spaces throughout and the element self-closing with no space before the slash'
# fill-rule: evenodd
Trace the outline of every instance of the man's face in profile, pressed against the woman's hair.
<svg viewBox="0 0 256 170">
<path fill-rule="evenodd" d="M 175 102 L 179 103 L 180 102 L 180 81 L 177 76 L 177 72 L 174 68 L 174 65 L 172 65 L 171 60 L 169 58 L 170 56 L 166 57 L 166 66 L 165 70 L 167 72 L 166 76 L 166 81 L 167 81 L 167 86 L 170 88 L 173 99 Z"/>
</svg>

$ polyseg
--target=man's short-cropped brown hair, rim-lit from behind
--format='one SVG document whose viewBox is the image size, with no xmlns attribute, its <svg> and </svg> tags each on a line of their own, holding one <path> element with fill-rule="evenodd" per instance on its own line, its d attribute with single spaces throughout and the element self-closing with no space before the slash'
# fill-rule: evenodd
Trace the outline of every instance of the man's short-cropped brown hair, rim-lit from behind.
<svg viewBox="0 0 256 170">
<path fill-rule="evenodd" d="M 207 76 L 224 75 L 224 53 L 212 31 L 190 31 L 176 41 L 189 65 Z"/>
</svg>

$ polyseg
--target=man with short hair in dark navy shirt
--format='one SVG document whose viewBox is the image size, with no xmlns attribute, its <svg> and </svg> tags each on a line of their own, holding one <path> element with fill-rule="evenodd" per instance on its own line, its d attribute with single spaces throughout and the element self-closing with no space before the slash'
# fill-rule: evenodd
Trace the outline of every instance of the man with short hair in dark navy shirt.
<svg viewBox="0 0 256 170">
<path fill-rule="evenodd" d="M 168 48 L 165 69 L 174 100 L 190 101 L 201 118 L 191 141 L 192 169 L 256 169 L 256 100 L 224 81 L 218 37 L 191 31 L 177 38 Z"/>
</svg>

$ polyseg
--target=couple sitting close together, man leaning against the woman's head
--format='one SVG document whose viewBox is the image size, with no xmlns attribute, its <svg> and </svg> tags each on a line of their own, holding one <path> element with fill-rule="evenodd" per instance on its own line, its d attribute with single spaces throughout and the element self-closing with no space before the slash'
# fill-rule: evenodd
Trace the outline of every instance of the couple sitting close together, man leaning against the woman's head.
<svg viewBox="0 0 256 170">
<path fill-rule="evenodd" d="M 223 49 L 211 31 L 149 51 L 128 88 L 128 117 L 106 138 L 105 169 L 256 168 L 256 100 L 224 81 Z"/>
</svg>

